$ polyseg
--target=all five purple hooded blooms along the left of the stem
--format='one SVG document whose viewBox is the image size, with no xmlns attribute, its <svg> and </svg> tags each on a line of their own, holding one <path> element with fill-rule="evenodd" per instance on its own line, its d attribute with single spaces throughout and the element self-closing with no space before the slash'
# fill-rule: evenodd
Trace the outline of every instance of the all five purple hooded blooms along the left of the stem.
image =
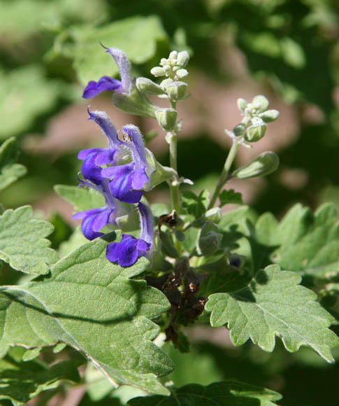
<svg viewBox="0 0 339 406">
<path fill-rule="evenodd" d="M 106 48 L 106 47 L 104 47 Z M 106 48 L 120 70 L 121 80 L 103 76 L 97 82 L 91 80 L 85 87 L 83 97 L 92 98 L 103 90 L 114 90 L 114 94 L 129 94 L 131 91 L 131 64 L 127 56 L 117 48 Z M 97 190 L 105 198 L 106 205 L 74 214 L 82 218 L 81 229 L 87 239 L 103 235 L 105 226 L 119 227 L 119 218 L 130 216 L 138 204 L 140 238 L 123 234 L 122 241 L 108 244 L 106 258 L 122 267 L 129 267 L 140 256 L 150 258 L 153 251 L 153 217 L 149 207 L 140 202 L 143 190 L 152 188 L 151 177 L 157 170 L 157 162 L 145 148 L 140 130 L 135 125 L 122 127 L 123 139 L 118 137 L 115 127 L 103 111 L 89 111 L 89 120 L 101 127 L 108 138 L 107 148 L 89 148 L 80 151 L 83 161 L 80 186 Z"/>
</svg>

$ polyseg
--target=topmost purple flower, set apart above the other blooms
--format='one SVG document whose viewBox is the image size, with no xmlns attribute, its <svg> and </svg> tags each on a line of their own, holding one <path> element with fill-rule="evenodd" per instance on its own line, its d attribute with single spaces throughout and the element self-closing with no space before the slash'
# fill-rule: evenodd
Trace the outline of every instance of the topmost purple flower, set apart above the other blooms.
<svg viewBox="0 0 339 406">
<path fill-rule="evenodd" d="M 92 99 L 103 90 L 114 90 L 114 94 L 126 93 L 127 95 L 131 92 L 131 62 L 129 62 L 127 55 L 119 48 L 107 48 L 106 46 L 103 48 L 115 59 L 121 80 L 110 78 L 110 76 L 103 76 L 97 82 L 91 80 L 82 94 L 85 99 Z"/>
</svg>

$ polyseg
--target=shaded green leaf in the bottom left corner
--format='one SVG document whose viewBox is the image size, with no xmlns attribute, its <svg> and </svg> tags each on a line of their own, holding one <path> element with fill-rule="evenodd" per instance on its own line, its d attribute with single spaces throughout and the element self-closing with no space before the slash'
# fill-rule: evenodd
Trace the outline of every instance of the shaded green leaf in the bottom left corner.
<svg viewBox="0 0 339 406">
<path fill-rule="evenodd" d="M 0 360 L 0 399 L 21 406 L 42 391 L 57 388 L 60 381 L 80 381 L 78 363 L 64 361 L 48 367 L 41 362 L 17 362 L 10 356 Z"/>
</svg>

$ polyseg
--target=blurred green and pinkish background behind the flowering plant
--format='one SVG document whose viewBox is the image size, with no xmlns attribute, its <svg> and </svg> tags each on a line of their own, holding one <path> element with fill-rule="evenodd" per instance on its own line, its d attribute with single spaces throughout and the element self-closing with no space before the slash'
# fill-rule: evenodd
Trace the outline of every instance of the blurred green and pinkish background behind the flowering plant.
<svg viewBox="0 0 339 406">
<path fill-rule="evenodd" d="M 252 150 L 240 151 L 237 164 L 275 151 L 280 168 L 230 187 L 259 214 L 280 217 L 295 202 L 339 208 L 338 12 L 337 0 L 0 0 L 0 141 L 17 137 L 18 162 L 27 167 L 1 191 L 1 203 L 32 204 L 56 225 L 58 246 L 71 232 L 72 209 L 53 186 L 76 185 L 78 151 L 106 141 L 87 121 L 88 102 L 106 110 L 117 128 L 157 129 L 154 120 L 114 109 L 108 92 L 81 98 L 88 80 L 117 74 L 101 41 L 127 52 L 135 76 L 150 76 L 173 49 L 190 52 L 191 96 L 179 106 L 179 172 L 196 188 L 208 188 L 222 168 L 229 148 L 224 128 L 241 120 L 236 99 L 264 94 L 280 118 Z M 164 133 L 157 131 L 149 148 L 166 164 Z M 148 197 L 164 196 L 159 188 Z M 308 350 L 267 354 L 249 343 L 234 349 L 210 331 L 190 333 L 192 355 L 168 347 L 178 363 L 176 385 L 236 378 L 279 391 L 284 406 L 338 402 L 338 366 Z"/>
</svg>

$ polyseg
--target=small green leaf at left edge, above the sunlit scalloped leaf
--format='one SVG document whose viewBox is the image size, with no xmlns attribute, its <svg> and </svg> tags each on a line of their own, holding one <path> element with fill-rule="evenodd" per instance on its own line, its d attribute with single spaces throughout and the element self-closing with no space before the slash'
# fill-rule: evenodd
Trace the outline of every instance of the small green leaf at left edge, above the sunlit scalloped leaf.
<svg viewBox="0 0 339 406">
<path fill-rule="evenodd" d="M 14 137 L 3 142 L 0 147 L 0 190 L 6 188 L 26 174 L 24 165 L 16 164 L 17 145 Z"/>
</svg>

